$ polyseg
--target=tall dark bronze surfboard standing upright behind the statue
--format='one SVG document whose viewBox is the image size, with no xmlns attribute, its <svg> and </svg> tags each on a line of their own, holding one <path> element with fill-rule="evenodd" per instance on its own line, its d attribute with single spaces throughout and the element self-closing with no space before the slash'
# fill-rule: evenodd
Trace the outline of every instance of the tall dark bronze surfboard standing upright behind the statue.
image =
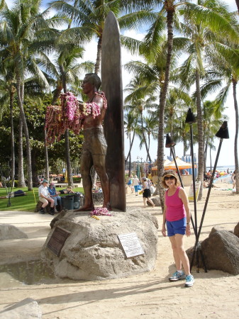
<svg viewBox="0 0 239 319">
<path fill-rule="evenodd" d="M 104 134 L 108 145 L 106 171 L 110 202 L 112 208 L 126 211 L 121 41 L 118 21 L 111 11 L 106 17 L 102 37 L 101 82 L 108 103 Z"/>
</svg>

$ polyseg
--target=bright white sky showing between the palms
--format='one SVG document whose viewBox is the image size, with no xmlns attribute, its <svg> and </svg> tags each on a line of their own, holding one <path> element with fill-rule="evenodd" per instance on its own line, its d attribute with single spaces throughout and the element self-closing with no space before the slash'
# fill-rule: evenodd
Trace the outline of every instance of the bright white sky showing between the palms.
<svg viewBox="0 0 239 319">
<path fill-rule="evenodd" d="M 12 0 L 5 0 L 6 3 L 11 7 L 13 4 Z M 43 6 L 48 4 L 49 1 L 44 0 L 43 1 Z M 235 0 L 226 0 L 225 1 L 228 6 L 230 6 L 231 11 L 236 11 L 237 6 L 235 4 Z M 138 40 L 142 40 L 144 33 L 136 32 L 135 30 L 130 30 L 124 33 L 125 35 L 128 35 L 131 38 L 135 38 Z M 85 53 L 84 53 L 84 60 L 91 60 L 95 61 L 96 60 L 96 40 L 92 40 L 91 43 L 87 44 L 85 46 Z M 123 89 L 126 87 L 126 85 L 130 82 L 131 79 L 131 74 L 128 74 L 126 70 L 124 69 L 123 65 L 125 65 L 127 62 L 131 60 L 139 60 L 139 57 L 137 56 L 132 56 L 130 55 L 129 52 L 126 51 L 122 47 L 121 50 L 121 56 L 122 56 L 122 81 L 123 81 Z M 124 94 L 125 96 L 125 94 Z M 210 99 L 210 96 L 207 98 Z M 239 101 L 239 99 L 238 99 Z M 222 146 L 221 146 L 221 152 L 218 158 L 218 166 L 230 166 L 234 165 L 234 137 L 235 137 L 235 110 L 234 110 L 234 102 L 233 102 L 233 91 L 230 90 L 230 93 L 228 94 L 228 99 L 226 100 L 226 115 L 228 116 L 228 130 L 229 130 L 229 139 L 228 140 L 223 140 Z M 196 124 L 194 124 L 196 125 Z M 193 126 L 194 128 L 194 126 Z M 196 127 L 195 127 L 196 129 Z M 219 128 L 218 128 L 219 130 Z M 219 139 L 215 138 L 214 140 L 214 145 L 216 147 L 216 151 L 212 151 L 212 164 L 215 162 L 216 158 L 216 153 L 218 151 L 218 145 L 219 145 Z M 135 139 L 133 149 L 131 152 L 131 160 L 132 161 L 141 161 L 141 158 L 143 161 L 146 160 L 146 152 L 145 152 L 145 147 L 142 148 L 142 150 L 139 149 L 139 140 L 138 138 Z M 125 155 L 128 155 L 128 150 L 129 150 L 129 141 L 125 137 Z M 177 156 L 182 157 L 183 155 L 183 147 L 182 143 L 178 143 L 175 146 L 175 153 Z M 194 145 L 194 153 L 197 154 L 197 145 Z M 169 149 L 165 148 L 165 159 L 167 158 L 167 155 L 169 155 Z M 157 140 L 152 140 L 150 142 L 150 156 L 152 160 L 154 161 L 157 159 Z M 209 155 L 207 159 L 207 165 L 209 166 Z"/>
</svg>

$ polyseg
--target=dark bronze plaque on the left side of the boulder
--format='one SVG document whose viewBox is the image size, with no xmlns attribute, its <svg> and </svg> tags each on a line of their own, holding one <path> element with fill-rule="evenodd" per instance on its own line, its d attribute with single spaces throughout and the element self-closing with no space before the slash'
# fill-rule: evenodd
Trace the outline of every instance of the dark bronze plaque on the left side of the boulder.
<svg viewBox="0 0 239 319">
<path fill-rule="evenodd" d="M 68 230 L 56 227 L 48 242 L 48 249 L 59 256 L 68 236 L 70 236 L 70 232 L 68 232 Z"/>
</svg>

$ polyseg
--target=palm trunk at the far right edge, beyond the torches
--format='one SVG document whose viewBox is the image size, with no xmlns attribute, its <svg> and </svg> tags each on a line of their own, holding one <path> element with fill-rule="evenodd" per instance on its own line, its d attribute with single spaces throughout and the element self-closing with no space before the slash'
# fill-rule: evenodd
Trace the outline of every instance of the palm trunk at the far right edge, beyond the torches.
<svg viewBox="0 0 239 319">
<path fill-rule="evenodd" d="M 235 141 L 234 141 L 234 157 L 235 157 L 235 194 L 239 194 L 239 167 L 238 167 L 238 101 L 236 98 L 236 86 L 238 82 L 233 80 L 233 99 L 235 108 Z"/>
</svg>

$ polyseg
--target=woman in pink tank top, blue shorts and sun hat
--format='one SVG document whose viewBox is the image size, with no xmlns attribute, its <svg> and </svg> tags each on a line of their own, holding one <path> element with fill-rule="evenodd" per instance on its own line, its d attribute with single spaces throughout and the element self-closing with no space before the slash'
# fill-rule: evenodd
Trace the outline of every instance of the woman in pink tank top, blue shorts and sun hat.
<svg viewBox="0 0 239 319">
<path fill-rule="evenodd" d="M 167 235 L 172 245 L 176 272 L 169 277 L 169 281 L 186 279 L 185 286 L 194 284 L 194 276 L 190 274 L 189 258 L 184 250 L 184 235 L 191 235 L 189 201 L 182 187 L 178 186 L 177 174 L 171 169 L 162 174 L 162 186 L 165 191 L 165 209 L 163 213 L 162 235 Z M 184 272 L 182 271 L 184 267 Z"/>
</svg>

